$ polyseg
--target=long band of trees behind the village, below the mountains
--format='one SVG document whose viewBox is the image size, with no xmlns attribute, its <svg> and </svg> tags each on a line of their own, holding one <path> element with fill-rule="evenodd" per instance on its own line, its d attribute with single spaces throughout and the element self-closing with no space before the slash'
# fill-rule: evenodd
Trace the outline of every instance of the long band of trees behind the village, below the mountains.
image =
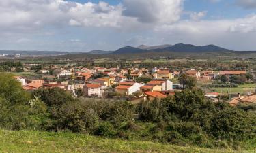
<svg viewBox="0 0 256 153">
<path fill-rule="evenodd" d="M 195 68 L 198 70 L 212 69 L 214 71 L 227 71 L 227 70 L 256 70 L 255 62 L 253 61 L 170 61 L 170 62 L 144 62 L 133 63 L 132 61 L 117 60 L 111 62 L 94 63 L 94 60 L 87 62 L 77 62 L 78 65 L 84 67 L 119 67 L 122 69 L 131 67 L 140 67 L 152 69 L 154 67 L 167 67 L 169 69 L 184 69 L 184 68 Z"/>
</svg>

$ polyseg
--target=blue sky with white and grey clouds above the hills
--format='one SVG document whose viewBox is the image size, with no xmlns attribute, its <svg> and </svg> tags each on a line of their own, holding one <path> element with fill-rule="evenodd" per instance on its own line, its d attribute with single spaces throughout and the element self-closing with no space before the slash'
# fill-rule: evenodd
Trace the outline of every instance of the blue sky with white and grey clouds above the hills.
<svg viewBox="0 0 256 153">
<path fill-rule="evenodd" d="M 256 50 L 256 0 L 1 0 L 0 50 Z"/>
</svg>

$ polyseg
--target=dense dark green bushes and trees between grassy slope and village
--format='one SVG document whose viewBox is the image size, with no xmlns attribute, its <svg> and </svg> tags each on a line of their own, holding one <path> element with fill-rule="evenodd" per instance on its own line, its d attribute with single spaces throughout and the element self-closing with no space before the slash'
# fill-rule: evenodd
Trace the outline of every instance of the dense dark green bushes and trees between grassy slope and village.
<svg viewBox="0 0 256 153">
<path fill-rule="evenodd" d="M 60 88 L 28 93 L 10 75 L 0 75 L 0 127 L 4 129 L 236 148 L 256 137 L 255 110 L 255 105 L 213 103 L 196 88 L 138 105 L 77 99 Z"/>
</svg>

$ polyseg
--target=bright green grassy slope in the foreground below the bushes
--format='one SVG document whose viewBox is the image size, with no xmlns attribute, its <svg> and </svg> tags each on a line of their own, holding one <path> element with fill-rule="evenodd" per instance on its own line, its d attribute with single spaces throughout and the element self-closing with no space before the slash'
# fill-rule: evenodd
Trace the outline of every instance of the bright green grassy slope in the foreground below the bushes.
<svg viewBox="0 0 256 153">
<path fill-rule="evenodd" d="M 36 131 L 0 131 L 0 152 L 245 152 L 225 149 L 207 149 L 192 146 L 162 145 L 145 141 L 102 139 L 72 133 L 47 133 Z M 253 151 L 251 151 L 253 152 Z"/>
</svg>

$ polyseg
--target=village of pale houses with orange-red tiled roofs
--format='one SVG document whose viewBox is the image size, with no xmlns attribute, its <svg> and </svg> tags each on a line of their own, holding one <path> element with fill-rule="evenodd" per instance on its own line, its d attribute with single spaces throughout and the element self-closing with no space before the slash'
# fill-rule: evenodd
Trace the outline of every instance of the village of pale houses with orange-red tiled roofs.
<svg viewBox="0 0 256 153">
<path fill-rule="evenodd" d="M 37 65 L 26 65 L 27 69 L 36 69 Z M 119 67 L 104 68 L 94 67 L 40 67 L 38 73 L 44 79 L 31 79 L 15 76 L 27 91 L 38 88 L 61 88 L 71 92 L 74 97 L 93 97 L 103 99 L 122 99 L 131 103 L 162 99 L 184 89 L 184 84 L 178 80 L 182 73 L 197 82 L 210 82 L 216 78 L 230 78 L 236 75 L 246 75 L 246 71 L 197 71 L 195 69 L 182 69 L 177 71 L 167 68 L 154 67 L 120 69 Z M 229 91 L 227 91 L 229 92 Z M 254 103 L 255 90 L 250 90 L 246 95 L 231 93 L 227 95 L 230 105 L 238 103 Z M 205 91 L 205 97 L 218 102 L 222 98 L 221 92 Z"/>
</svg>

